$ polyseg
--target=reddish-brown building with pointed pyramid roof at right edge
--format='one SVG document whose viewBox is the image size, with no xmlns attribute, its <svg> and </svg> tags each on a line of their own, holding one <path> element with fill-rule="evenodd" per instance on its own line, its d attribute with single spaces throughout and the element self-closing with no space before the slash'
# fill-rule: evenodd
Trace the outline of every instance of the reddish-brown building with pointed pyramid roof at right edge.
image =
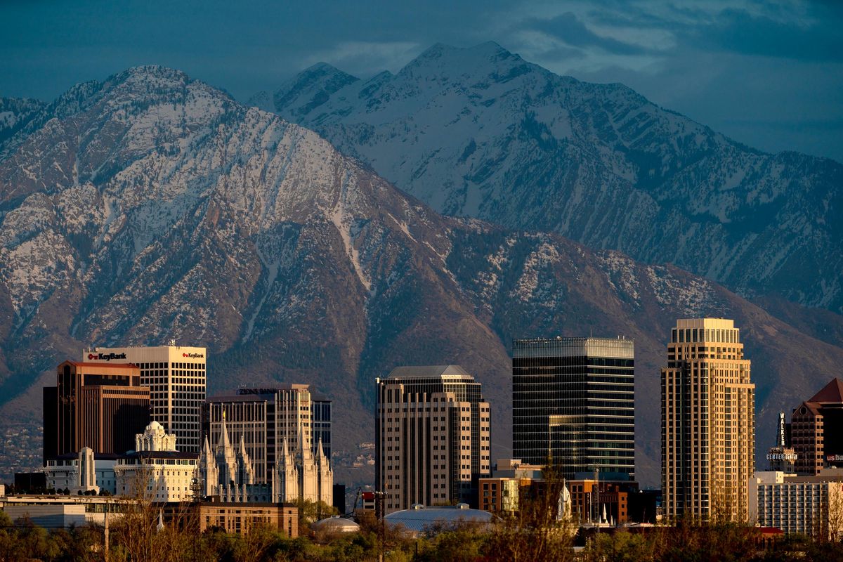
<svg viewBox="0 0 843 562">
<path fill-rule="evenodd" d="M 797 474 L 814 475 L 843 466 L 843 382 L 833 379 L 793 409 L 791 446 Z"/>
</svg>

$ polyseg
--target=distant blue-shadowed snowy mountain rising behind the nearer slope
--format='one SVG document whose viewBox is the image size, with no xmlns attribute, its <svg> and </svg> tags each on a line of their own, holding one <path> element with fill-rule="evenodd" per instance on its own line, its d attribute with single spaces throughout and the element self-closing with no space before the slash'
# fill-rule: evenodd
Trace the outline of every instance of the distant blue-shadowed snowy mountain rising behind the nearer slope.
<svg viewBox="0 0 843 562">
<path fill-rule="evenodd" d="M 365 81 L 320 63 L 274 102 L 445 214 L 843 311 L 843 165 L 830 159 L 761 153 L 494 43 L 434 45 Z"/>
</svg>

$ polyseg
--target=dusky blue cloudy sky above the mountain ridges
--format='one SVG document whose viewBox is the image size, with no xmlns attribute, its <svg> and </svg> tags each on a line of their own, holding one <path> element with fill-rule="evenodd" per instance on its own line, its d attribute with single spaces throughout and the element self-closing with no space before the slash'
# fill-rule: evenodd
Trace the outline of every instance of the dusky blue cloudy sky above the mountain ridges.
<svg viewBox="0 0 843 562">
<path fill-rule="evenodd" d="M 843 3 L 0 0 L 0 95 L 163 64 L 238 99 L 319 61 L 365 78 L 436 42 L 494 40 L 621 82 L 750 146 L 843 162 Z"/>
</svg>

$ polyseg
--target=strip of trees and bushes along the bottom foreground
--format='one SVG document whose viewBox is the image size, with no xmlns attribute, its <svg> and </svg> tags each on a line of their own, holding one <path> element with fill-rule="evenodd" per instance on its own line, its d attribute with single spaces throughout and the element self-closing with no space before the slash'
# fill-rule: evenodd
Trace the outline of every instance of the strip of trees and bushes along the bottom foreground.
<svg viewBox="0 0 843 562">
<path fill-rule="evenodd" d="M 438 527 L 413 538 L 380 527 L 367 514 L 359 533 L 287 538 L 266 527 L 244 535 L 219 528 L 198 533 L 190 523 L 159 529 L 155 513 L 141 511 L 111 524 L 106 558 L 102 527 L 45 529 L 0 513 L 0 562 L 373 562 L 381 553 L 389 562 L 843 562 L 840 543 L 803 536 L 762 543 L 757 529 L 733 523 L 652 527 L 648 533 L 603 530 L 588 537 L 571 533 L 564 522 L 544 528 L 513 523 L 517 520 L 491 530 Z"/>
</svg>

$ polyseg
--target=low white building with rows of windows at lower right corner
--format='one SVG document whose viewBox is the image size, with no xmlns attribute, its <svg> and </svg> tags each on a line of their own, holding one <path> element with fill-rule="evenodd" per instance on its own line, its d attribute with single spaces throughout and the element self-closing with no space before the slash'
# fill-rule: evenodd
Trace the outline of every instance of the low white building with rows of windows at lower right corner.
<svg viewBox="0 0 843 562">
<path fill-rule="evenodd" d="M 813 476 L 756 472 L 749 479 L 749 521 L 822 540 L 843 538 L 843 470 Z"/>
</svg>

